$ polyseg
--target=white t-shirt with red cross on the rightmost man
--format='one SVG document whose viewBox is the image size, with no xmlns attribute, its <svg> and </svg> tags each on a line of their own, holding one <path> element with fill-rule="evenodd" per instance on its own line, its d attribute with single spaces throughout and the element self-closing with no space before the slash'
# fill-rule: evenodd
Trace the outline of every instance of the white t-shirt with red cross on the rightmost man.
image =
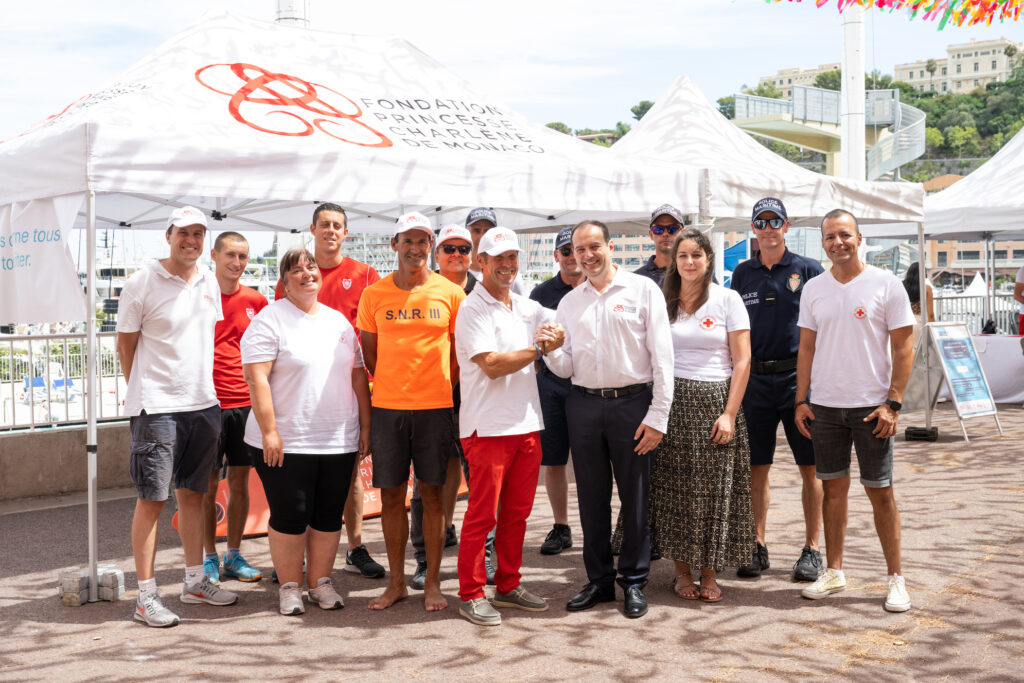
<svg viewBox="0 0 1024 683">
<path fill-rule="evenodd" d="M 841 284 L 826 270 L 804 285 L 797 325 L 817 333 L 811 366 L 812 403 L 829 408 L 880 405 L 889 394 L 889 332 L 912 327 L 903 283 L 866 265 Z"/>
</svg>

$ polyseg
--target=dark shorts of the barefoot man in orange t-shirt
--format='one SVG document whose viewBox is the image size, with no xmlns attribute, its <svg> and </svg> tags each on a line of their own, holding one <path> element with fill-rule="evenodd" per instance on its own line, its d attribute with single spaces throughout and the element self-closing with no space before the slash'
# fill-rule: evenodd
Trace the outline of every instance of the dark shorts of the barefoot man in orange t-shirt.
<svg viewBox="0 0 1024 683">
<path fill-rule="evenodd" d="M 394 488 L 409 483 L 409 467 L 424 483 L 441 486 L 449 458 L 455 456 L 458 432 L 451 408 L 425 411 L 373 409 L 370 451 L 374 461 L 374 486 Z"/>
</svg>

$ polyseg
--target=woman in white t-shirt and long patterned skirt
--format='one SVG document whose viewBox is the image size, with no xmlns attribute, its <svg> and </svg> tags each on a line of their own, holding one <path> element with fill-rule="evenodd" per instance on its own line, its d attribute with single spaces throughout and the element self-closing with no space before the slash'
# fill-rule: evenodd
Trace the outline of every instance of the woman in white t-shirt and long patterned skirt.
<svg viewBox="0 0 1024 683">
<path fill-rule="evenodd" d="M 675 593 L 718 602 L 725 565 L 754 551 L 751 456 L 740 401 L 751 370 L 751 324 L 736 292 L 712 283 L 715 252 L 680 232 L 665 273 L 675 351 L 669 429 L 651 466 L 651 551 L 675 560 Z M 699 588 L 691 567 L 700 569 Z"/>
</svg>

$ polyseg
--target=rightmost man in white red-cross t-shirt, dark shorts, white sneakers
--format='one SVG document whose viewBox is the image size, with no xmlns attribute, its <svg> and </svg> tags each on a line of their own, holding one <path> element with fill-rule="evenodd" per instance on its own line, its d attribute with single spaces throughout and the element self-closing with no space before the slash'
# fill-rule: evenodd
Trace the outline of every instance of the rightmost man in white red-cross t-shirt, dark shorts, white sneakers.
<svg viewBox="0 0 1024 683">
<path fill-rule="evenodd" d="M 893 436 L 913 365 L 913 311 L 902 283 L 860 260 L 860 230 L 842 209 L 821 221 L 831 268 L 804 285 L 800 303 L 795 420 L 814 441 L 824 492 L 827 568 L 801 593 L 816 600 L 846 588 L 843 544 L 849 514 L 850 449 L 874 513 L 889 574 L 885 608 L 906 611 L 899 510 L 893 494 Z"/>
</svg>

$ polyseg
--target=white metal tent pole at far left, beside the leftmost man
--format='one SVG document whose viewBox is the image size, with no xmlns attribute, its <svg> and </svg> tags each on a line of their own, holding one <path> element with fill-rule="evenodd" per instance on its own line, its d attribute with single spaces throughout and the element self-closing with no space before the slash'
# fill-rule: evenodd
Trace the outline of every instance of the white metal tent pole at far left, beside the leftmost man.
<svg viewBox="0 0 1024 683">
<path fill-rule="evenodd" d="M 96 354 L 98 342 L 96 338 L 96 193 L 89 190 L 86 196 L 86 295 L 87 328 L 86 328 L 86 439 L 85 454 L 88 461 L 89 485 L 89 602 L 99 600 L 99 578 L 96 565 L 98 562 L 98 535 L 96 530 L 96 405 L 98 392 L 96 390 Z"/>
</svg>

